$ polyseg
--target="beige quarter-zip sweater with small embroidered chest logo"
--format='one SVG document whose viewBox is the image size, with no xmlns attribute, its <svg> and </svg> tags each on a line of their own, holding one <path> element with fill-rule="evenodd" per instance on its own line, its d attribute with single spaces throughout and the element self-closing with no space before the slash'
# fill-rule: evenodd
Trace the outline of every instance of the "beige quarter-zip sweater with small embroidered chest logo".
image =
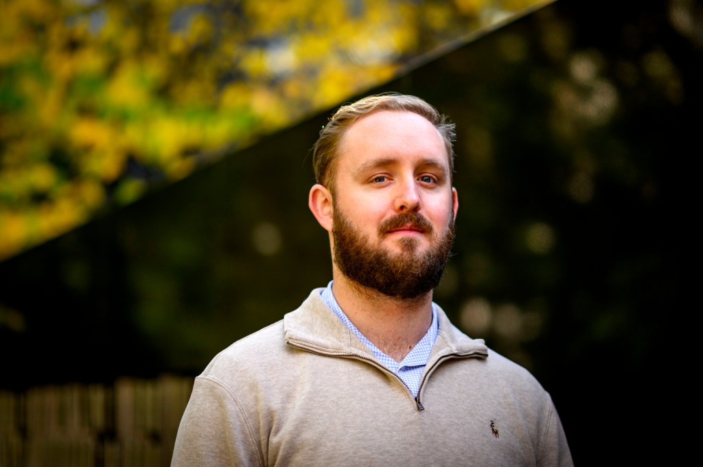
<svg viewBox="0 0 703 467">
<path fill-rule="evenodd" d="M 441 308 L 414 398 L 320 291 L 195 379 L 173 467 L 573 465 L 546 390 Z"/>
</svg>

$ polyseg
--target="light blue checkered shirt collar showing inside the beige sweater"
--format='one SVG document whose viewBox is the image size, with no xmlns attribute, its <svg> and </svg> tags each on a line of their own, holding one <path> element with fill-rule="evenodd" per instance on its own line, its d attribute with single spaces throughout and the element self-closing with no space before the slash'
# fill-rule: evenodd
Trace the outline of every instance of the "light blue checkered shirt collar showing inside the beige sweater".
<svg viewBox="0 0 703 467">
<path fill-rule="evenodd" d="M 430 360 L 430 352 L 432 352 L 434 341 L 437 339 L 437 311 L 434 310 L 434 303 L 432 303 L 432 324 L 430 324 L 430 329 L 427 329 L 425 336 L 420 339 L 420 342 L 418 342 L 415 347 L 413 347 L 413 350 L 399 363 L 393 360 L 392 357 L 382 353 L 378 347 L 374 346 L 373 343 L 361 334 L 359 329 L 356 329 L 356 326 L 349 321 L 349 318 L 344 314 L 332 293 L 333 282 L 334 281 L 330 281 L 327 287 L 323 289 L 323 301 L 340 317 L 344 324 L 347 324 L 347 327 L 352 330 L 356 337 L 360 338 L 361 341 L 366 344 L 368 350 L 378 358 L 378 361 L 403 380 L 408 386 L 408 389 L 410 389 L 410 392 L 413 393 L 413 396 L 417 397 L 418 391 L 420 390 L 420 378 L 423 376 L 427 360 Z"/>
</svg>

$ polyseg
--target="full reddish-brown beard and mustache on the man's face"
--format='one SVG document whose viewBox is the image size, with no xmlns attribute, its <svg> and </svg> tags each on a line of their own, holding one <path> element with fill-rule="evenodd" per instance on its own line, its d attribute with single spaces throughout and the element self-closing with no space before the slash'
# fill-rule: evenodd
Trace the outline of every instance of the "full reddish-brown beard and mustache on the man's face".
<svg viewBox="0 0 703 467">
<path fill-rule="evenodd" d="M 378 237 L 393 229 L 413 225 L 425 235 L 432 235 L 432 224 L 419 213 L 398 214 L 382 222 Z M 394 254 L 375 246 L 335 207 L 332 234 L 337 268 L 347 279 L 381 294 L 401 299 L 417 298 L 439 285 L 454 242 L 454 216 L 451 213 L 446 232 L 424 253 L 418 253 L 420 240 L 399 239 L 401 251 Z"/>
</svg>

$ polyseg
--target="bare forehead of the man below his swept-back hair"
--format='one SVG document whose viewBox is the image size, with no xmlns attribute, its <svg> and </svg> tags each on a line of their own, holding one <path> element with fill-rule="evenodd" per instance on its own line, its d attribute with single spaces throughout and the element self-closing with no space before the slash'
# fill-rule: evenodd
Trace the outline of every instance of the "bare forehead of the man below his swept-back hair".
<svg viewBox="0 0 703 467">
<path fill-rule="evenodd" d="M 381 110 L 354 122 L 342 137 L 339 158 L 346 169 L 385 159 L 434 160 L 449 170 L 449 154 L 439 131 L 425 117 L 406 111 Z"/>
</svg>

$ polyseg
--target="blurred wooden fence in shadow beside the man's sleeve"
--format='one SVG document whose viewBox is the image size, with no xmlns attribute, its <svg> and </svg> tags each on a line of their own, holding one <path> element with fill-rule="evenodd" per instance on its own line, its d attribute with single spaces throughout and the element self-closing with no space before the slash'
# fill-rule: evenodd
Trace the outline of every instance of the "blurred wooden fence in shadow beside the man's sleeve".
<svg viewBox="0 0 703 467">
<path fill-rule="evenodd" d="M 192 378 L 0 390 L 1 467 L 168 467 Z"/>
</svg>

